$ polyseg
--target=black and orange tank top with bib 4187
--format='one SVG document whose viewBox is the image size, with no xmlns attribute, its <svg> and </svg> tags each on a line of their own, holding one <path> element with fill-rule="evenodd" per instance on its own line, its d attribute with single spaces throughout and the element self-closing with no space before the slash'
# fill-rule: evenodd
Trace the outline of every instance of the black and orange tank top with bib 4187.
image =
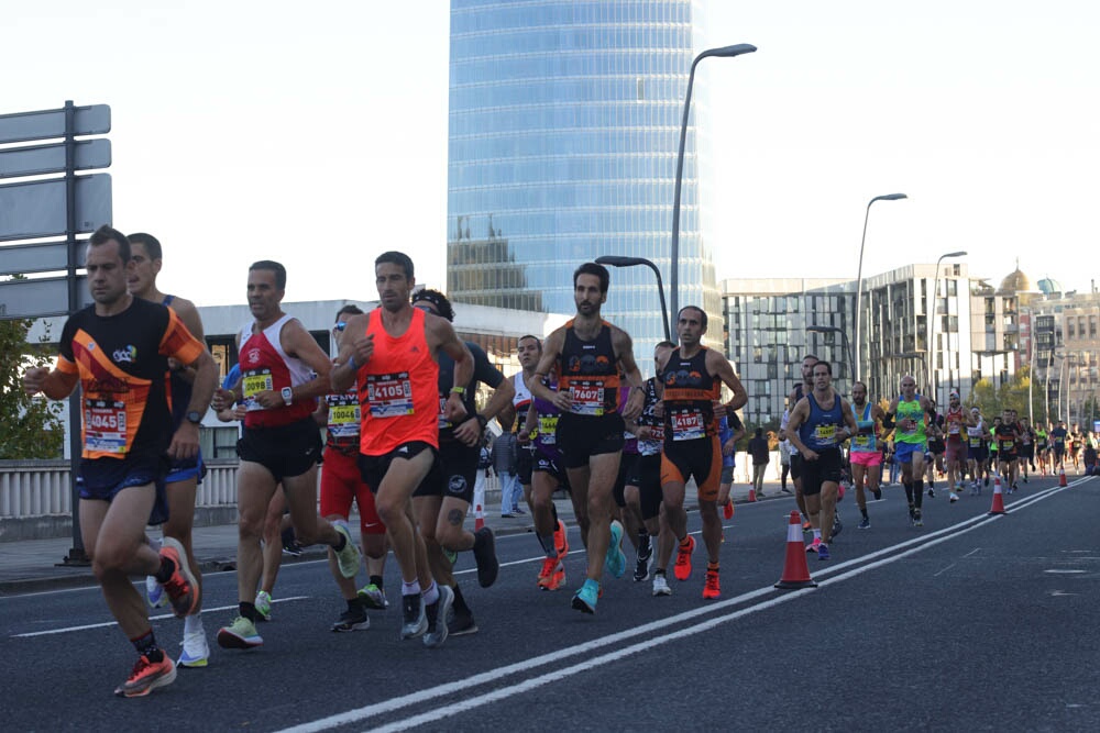
<svg viewBox="0 0 1100 733">
<path fill-rule="evenodd" d="M 691 358 L 676 348 L 664 366 L 664 446 L 710 437 L 718 433 L 714 417 L 714 400 L 722 382 L 706 370 L 704 346 Z"/>
</svg>

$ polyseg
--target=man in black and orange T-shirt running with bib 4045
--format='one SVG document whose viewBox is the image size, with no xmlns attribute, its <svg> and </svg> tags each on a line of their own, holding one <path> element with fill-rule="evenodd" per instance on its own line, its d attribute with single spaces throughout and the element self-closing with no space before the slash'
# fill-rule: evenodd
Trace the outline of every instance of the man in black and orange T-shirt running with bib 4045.
<svg viewBox="0 0 1100 733">
<path fill-rule="evenodd" d="M 167 519 L 164 481 L 170 462 L 198 456 L 199 423 L 217 366 L 174 311 L 127 291 L 136 263 L 121 232 L 107 225 L 96 230 L 86 263 L 95 302 L 65 322 L 55 367 L 28 369 L 23 389 L 61 400 L 80 385 L 80 532 L 107 606 L 139 655 L 114 690 L 132 698 L 169 685 L 176 665 L 157 646 L 129 576 L 154 576 L 178 618 L 194 613 L 201 600 L 184 546 L 165 535 L 157 553 L 145 525 Z M 166 393 L 169 358 L 194 369 L 186 419 L 178 425 Z"/>
</svg>

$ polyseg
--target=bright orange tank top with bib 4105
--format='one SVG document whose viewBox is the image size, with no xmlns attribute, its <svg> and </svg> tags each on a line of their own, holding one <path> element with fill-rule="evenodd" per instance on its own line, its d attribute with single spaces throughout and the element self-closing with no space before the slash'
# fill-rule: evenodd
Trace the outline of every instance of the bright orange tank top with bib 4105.
<svg viewBox="0 0 1100 733">
<path fill-rule="evenodd" d="M 371 311 L 366 333 L 374 334 L 374 352 L 355 373 L 363 455 L 382 456 L 414 441 L 439 448 L 439 365 L 424 329 L 418 308 L 400 336 L 386 333 L 381 308 Z"/>
</svg>

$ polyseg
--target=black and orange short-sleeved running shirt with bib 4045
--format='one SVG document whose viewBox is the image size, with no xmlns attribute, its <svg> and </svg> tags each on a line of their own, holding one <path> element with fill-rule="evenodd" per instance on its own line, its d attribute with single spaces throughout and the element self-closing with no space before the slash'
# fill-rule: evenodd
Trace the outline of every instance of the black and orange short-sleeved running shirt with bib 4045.
<svg viewBox="0 0 1100 733">
<path fill-rule="evenodd" d="M 69 318 L 57 370 L 80 378 L 80 455 L 164 453 L 174 432 L 164 378 L 168 357 L 190 364 L 202 349 L 175 312 L 141 298 L 114 315 L 97 315 L 89 306 Z"/>
</svg>

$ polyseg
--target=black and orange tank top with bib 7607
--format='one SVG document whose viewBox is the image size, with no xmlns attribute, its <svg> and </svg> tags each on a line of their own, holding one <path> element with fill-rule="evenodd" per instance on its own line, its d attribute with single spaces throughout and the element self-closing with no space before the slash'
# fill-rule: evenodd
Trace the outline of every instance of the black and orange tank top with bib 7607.
<svg viewBox="0 0 1100 733">
<path fill-rule="evenodd" d="M 593 341 L 581 341 L 570 319 L 558 356 L 558 391 L 569 392 L 573 414 L 601 417 L 617 412 L 619 376 L 610 324 L 602 321 Z"/>
</svg>

